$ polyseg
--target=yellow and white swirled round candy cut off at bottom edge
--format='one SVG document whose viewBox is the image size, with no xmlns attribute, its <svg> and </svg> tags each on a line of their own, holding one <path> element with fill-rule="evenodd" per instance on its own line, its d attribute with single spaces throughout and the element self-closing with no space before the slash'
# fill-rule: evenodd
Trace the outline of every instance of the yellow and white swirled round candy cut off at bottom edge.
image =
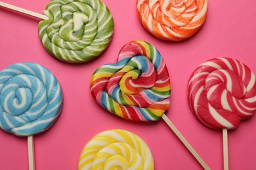
<svg viewBox="0 0 256 170">
<path fill-rule="evenodd" d="M 78 169 L 154 169 L 144 141 L 129 131 L 112 129 L 98 133 L 85 145 Z"/>
</svg>

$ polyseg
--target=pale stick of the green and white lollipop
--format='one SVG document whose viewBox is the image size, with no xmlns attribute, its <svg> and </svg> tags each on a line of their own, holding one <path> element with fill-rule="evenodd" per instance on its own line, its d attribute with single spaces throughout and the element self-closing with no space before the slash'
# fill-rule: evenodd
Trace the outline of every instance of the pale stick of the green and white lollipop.
<svg viewBox="0 0 256 170">
<path fill-rule="evenodd" d="M 9 5 L 7 3 L 0 2 L 0 6 L 5 7 L 7 9 L 15 10 L 15 11 L 18 11 L 18 12 L 22 12 L 24 14 L 28 14 L 28 15 L 33 16 L 35 18 L 40 18 L 41 20 L 48 20 L 48 17 L 43 15 L 43 14 L 38 14 L 38 13 L 33 12 L 31 10 L 22 9 L 22 8 L 16 7 L 14 5 Z"/>
</svg>

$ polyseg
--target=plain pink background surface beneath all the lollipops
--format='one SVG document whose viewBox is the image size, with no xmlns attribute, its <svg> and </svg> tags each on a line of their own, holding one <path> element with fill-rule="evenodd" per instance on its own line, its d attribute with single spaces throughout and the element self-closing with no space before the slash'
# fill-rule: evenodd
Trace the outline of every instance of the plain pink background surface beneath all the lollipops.
<svg viewBox="0 0 256 170">
<path fill-rule="evenodd" d="M 39 63 L 58 78 L 64 94 L 58 122 L 34 137 L 36 169 L 76 169 L 83 146 L 97 133 L 115 128 L 132 131 L 144 139 L 156 169 L 202 169 L 163 120 L 153 124 L 129 122 L 93 100 L 89 90 L 91 75 L 101 65 L 113 63 L 121 47 L 133 40 L 144 40 L 158 48 L 171 78 L 167 116 L 211 169 L 223 169 L 222 133 L 203 126 L 192 115 L 186 85 L 200 63 L 219 56 L 239 59 L 256 73 L 256 1 L 209 0 L 202 29 L 182 42 L 161 41 L 147 33 L 137 18 L 135 0 L 102 1 L 114 18 L 114 38 L 102 56 L 80 65 L 63 63 L 45 51 L 37 32 L 39 19 L 0 7 L 0 70 L 23 61 Z M 4 2 L 41 13 L 49 0 Z M 228 131 L 230 169 L 256 169 L 255 128 L 256 116 Z M 26 138 L 0 130 L 0 169 L 28 169 Z"/>
</svg>

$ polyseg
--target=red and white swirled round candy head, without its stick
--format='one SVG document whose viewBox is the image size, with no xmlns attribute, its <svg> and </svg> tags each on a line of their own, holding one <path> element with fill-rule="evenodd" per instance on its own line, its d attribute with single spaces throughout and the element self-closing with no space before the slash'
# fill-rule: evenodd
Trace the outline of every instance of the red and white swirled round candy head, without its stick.
<svg viewBox="0 0 256 170">
<path fill-rule="evenodd" d="M 236 59 L 210 59 L 190 76 L 188 99 L 192 112 L 206 126 L 234 129 L 255 113 L 255 75 Z"/>
</svg>

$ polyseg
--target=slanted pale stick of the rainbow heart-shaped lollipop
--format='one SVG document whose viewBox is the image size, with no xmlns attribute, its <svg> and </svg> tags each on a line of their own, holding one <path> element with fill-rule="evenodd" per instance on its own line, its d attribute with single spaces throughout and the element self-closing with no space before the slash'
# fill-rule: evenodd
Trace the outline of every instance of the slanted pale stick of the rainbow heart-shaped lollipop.
<svg viewBox="0 0 256 170">
<path fill-rule="evenodd" d="M 177 135 L 177 137 L 179 137 L 181 142 L 186 146 L 186 148 L 188 148 L 190 153 L 194 156 L 194 158 L 196 158 L 196 160 L 198 160 L 198 162 L 202 165 L 202 167 L 204 169 L 210 169 L 208 167 L 208 165 L 205 163 L 205 161 L 203 161 L 203 159 L 200 157 L 200 155 L 196 152 L 196 150 L 194 150 L 194 148 L 188 143 L 188 141 L 186 141 L 186 139 L 181 134 L 181 132 L 177 129 L 177 127 L 174 126 L 174 124 L 171 122 L 171 120 L 169 120 L 169 118 L 165 114 L 163 114 L 163 116 L 161 116 L 161 118 L 163 118 L 165 123 L 173 130 L 175 135 Z"/>
</svg>

